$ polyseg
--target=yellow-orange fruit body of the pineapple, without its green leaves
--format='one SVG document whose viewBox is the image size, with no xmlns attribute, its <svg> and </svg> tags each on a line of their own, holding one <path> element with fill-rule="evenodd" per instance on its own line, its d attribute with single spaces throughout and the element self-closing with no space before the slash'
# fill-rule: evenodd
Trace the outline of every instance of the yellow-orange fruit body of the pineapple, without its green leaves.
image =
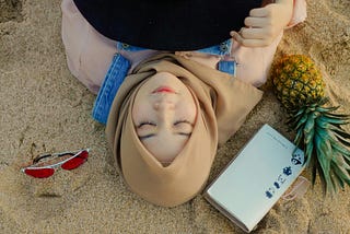
<svg viewBox="0 0 350 234">
<path fill-rule="evenodd" d="M 320 71 L 307 56 L 283 56 L 272 65 L 270 78 L 277 98 L 289 112 L 325 97 Z"/>
</svg>

